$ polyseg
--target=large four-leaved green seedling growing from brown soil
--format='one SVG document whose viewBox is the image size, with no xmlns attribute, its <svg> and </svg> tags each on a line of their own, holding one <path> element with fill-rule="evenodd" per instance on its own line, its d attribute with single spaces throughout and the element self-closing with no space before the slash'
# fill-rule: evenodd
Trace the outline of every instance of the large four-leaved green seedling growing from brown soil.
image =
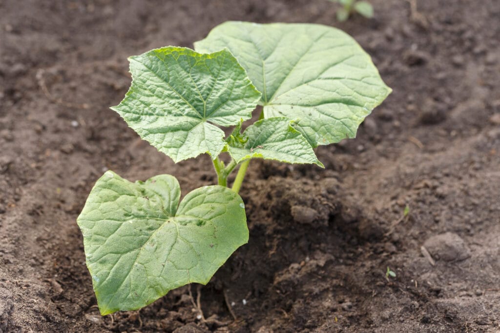
<svg viewBox="0 0 500 333">
<path fill-rule="evenodd" d="M 170 175 L 97 180 L 77 222 L 102 315 L 206 284 L 248 241 L 238 191 L 250 160 L 322 167 L 313 148 L 354 137 L 391 91 L 361 47 L 328 26 L 226 22 L 194 48 L 130 57 L 131 87 L 112 109 L 175 162 L 207 153 L 218 185 L 180 200 Z M 242 131 L 257 104 L 260 119 Z"/>
</svg>

